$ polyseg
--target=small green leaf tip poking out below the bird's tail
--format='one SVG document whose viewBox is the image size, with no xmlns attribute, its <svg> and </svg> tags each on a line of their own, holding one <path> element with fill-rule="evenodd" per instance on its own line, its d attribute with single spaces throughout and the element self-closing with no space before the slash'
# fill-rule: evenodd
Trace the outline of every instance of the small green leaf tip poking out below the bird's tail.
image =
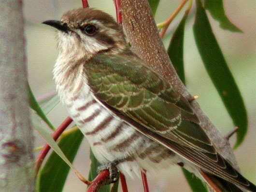
<svg viewBox="0 0 256 192">
<path fill-rule="evenodd" d="M 199 178 L 197 178 L 196 176 L 194 176 L 192 173 L 188 172 L 184 168 L 182 168 L 182 171 L 193 192 L 208 192 L 208 189 Z"/>
</svg>

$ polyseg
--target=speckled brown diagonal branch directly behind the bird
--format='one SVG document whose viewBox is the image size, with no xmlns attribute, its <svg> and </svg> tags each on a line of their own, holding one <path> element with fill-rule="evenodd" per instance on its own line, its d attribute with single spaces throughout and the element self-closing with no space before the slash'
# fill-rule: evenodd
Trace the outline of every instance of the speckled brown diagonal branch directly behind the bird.
<svg viewBox="0 0 256 192">
<path fill-rule="evenodd" d="M 189 98 L 185 85 L 179 79 L 159 36 L 153 14 L 147 0 L 120 0 L 124 29 L 132 50 L 143 61 L 162 74 L 183 96 Z M 238 169 L 230 144 L 194 100 L 191 102 L 201 126 L 213 141 L 216 150 Z"/>
</svg>

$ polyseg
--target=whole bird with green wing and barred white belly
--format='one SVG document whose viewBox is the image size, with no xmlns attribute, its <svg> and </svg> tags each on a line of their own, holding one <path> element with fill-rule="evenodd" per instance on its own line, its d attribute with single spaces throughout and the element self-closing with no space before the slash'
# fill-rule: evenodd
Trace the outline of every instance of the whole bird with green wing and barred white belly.
<svg viewBox="0 0 256 192">
<path fill-rule="evenodd" d="M 216 151 L 188 99 L 130 50 L 112 16 L 79 8 L 43 24 L 57 28 L 60 100 L 101 164 L 117 162 L 131 178 L 179 165 L 215 191 L 256 191 Z"/>
</svg>

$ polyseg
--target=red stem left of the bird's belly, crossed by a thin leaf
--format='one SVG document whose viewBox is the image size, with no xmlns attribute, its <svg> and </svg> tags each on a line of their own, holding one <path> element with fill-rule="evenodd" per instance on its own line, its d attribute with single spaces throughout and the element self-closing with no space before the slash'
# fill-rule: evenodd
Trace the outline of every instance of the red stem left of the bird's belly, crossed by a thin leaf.
<svg viewBox="0 0 256 192">
<path fill-rule="evenodd" d="M 70 117 L 67 117 L 67 119 L 65 119 L 65 121 L 59 125 L 59 127 L 56 129 L 56 131 L 53 133 L 53 136 L 52 136 L 55 141 L 62 134 L 62 132 L 70 125 L 70 123 L 72 123 L 72 121 L 73 120 Z M 36 173 L 38 173 L 38 171 L 43 163 L 43 160 L 50 149 L 51 149 L 51 147 L 48 144 L 45 144 L 43 146 L 43 149 L 37 158 Z"/>
</svg>

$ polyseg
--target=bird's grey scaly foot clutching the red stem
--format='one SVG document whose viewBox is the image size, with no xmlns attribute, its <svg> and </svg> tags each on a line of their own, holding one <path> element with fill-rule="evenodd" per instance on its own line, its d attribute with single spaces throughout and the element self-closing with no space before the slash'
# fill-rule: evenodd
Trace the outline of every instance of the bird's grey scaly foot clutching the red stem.
<svg viewBox="0 0 256 192">
<path fill-rule="evenodd" d="M 116 165 L 118 165 L 121 161 L 119 159 L 114 160 L 113 162 L 104 164 L 104 165 L 100 165 L 97 168 L 97 172 L 99 173 L 100 171 L 103 170 L 109 170 L 109 181 L 108 183 L 114 183 L 115 181 L 117 181 L 117 179 L 119 178 L 119 172 L 116 168 Z"/>
</svg>

